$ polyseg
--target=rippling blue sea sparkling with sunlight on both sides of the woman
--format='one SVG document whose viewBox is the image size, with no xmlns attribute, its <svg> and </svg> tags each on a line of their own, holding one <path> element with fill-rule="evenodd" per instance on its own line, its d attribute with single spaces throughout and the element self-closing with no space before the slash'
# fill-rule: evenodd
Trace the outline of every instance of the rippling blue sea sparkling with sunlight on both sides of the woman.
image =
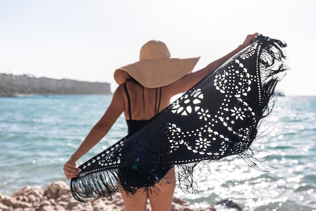
<svg viewBox="0 0 316 211">
<path fill-rule="evenodd" d="M 0 98 L 0 193 L 65 181 L 63 165 L 106 111 L 112 95 Z M 280 96 L 252 144 L 253 168 L 240 156 L 208 164 L 199 191 L 175 196 L 217 210 L 316 210 L 316 96 Z M 80 160 L 83 163 L 127 135 L 124 116 Z M 259 162 L 260 163 L 260 162 Z M 200 171 L 199 169 L 196 170 Z"/>
</svg>

